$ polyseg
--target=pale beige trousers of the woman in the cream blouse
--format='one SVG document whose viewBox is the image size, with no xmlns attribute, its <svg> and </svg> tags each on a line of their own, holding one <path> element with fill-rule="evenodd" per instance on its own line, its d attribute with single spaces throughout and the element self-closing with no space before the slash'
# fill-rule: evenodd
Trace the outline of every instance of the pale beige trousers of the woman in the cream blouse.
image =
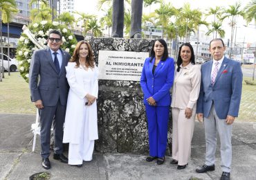
<svg viewBox="0 0 256 180">
<path fill-rule="evenodd" d="M 196 108 L 188 119 L 185 109 L 172 107 L 172 159 L 178 161 L 179 165 L 187 164 L 190 159 L 195 116 Z"/>
</svg>

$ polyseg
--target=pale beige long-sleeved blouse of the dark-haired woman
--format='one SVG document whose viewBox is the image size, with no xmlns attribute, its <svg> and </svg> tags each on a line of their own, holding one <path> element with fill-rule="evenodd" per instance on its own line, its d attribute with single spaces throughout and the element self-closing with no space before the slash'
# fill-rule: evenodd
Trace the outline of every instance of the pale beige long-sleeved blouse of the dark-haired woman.
<svg viewBox="0 0 256 180">
<path fill-rule="evenodd" d="M 200 66 L 188 64 L 179 72 L 175 70 L 174 86 L 172 87 L 172 107 L 193 109 L 199 97 L 201 84 Z"/>
</svg>

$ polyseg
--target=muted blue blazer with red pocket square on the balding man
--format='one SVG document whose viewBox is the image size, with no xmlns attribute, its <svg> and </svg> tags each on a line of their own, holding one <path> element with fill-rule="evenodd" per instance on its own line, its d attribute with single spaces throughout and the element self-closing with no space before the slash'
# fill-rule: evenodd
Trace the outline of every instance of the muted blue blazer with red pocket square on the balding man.
<svg viewBox="0 0 256 180">
<path fill-rule="evenodd" d="M 203 113 L 203 116 L 208 117 L 212 103 L 214 103 L 219 118 L 226 119 L 228 115 L 237 117 L 243 80 L 241 66 L 239 62 L 224 57 L 212 86 L 212 63 L 211 60 L 201 66 L 201 89 L 196 113 Z"/>
</svg>

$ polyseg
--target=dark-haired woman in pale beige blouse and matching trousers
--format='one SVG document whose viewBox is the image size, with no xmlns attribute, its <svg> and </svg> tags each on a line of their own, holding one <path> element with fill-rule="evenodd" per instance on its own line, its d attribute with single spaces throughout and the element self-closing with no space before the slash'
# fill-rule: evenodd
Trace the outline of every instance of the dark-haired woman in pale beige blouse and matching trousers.
<svg viewBox="0 0 256 180">
<path fill-rule="evenodd" d="M 177 169 L 186 168 L 191 153 L 191 141 L 196 116 L 196 100 L 199 97 L 201 71 L 195 65 L 194 50 L 189 43 L 179 49 L 172 87 L 172 161 Z"/>
</svg>

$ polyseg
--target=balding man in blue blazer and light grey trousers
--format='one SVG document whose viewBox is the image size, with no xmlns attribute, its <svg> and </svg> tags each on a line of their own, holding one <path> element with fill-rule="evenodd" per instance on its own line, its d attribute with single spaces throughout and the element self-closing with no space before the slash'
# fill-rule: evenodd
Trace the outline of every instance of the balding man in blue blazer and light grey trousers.
<svg viewBox="0 0 256 180">
<path fill-rule="evenodd" d="M 232 123 L 238 116 L 243 74 L 239 62 L 224 56 L 222 39 L 212 39 L 210 53 L 213 60 L 201 66 L 201 89 L 196 113 L 205 125 L 205 164 L 196 169 L 203 173 L 215 169 L 217 132 L 221 141 L 221 180 L 230 179 L 232 162 Z"/>
</svg>

